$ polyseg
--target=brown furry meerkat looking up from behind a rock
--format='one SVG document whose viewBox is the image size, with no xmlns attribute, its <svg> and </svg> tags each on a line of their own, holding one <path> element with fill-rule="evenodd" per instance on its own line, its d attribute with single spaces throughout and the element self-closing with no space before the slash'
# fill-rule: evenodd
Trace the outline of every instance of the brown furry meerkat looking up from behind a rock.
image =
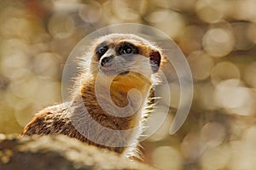
<svg viewBox="0 0 256 170">
<path fill-rule="evenodd" d="M 70 101 L 39 111 L 21 135 L 61 133 L 121 156 L 137 156 L 163 57 L 154 43 L 133 34 L 96 38 L 81 56 Z"/>
</svg>

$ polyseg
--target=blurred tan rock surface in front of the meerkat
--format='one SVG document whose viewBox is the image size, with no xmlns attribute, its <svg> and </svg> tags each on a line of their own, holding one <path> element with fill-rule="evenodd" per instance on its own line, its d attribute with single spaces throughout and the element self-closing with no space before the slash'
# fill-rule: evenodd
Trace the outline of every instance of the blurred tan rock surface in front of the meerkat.
<svg viewBox="0 0 256 170">
<path fill-rule="evenodd" d="M 154 169 L 127 161 L 108 150 L 83 144 L 63 135 L 32 136 L 0 134 L 0 169 Z"/>
</svg>

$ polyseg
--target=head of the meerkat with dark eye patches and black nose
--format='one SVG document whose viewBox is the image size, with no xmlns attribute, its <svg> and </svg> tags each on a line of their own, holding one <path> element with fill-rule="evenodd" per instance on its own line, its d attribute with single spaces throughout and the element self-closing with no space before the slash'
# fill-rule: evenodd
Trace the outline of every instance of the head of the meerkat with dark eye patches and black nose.
<svg viewBox="0 0 256 170">
<path fill-rule="evenodd" d="M 133 34 L 109 34 L 98 38 L 91 48 L 93 74 L 125 77 L 140 75 L 150 79 L 159 70 L 160 48 Z"/>
</svg>

